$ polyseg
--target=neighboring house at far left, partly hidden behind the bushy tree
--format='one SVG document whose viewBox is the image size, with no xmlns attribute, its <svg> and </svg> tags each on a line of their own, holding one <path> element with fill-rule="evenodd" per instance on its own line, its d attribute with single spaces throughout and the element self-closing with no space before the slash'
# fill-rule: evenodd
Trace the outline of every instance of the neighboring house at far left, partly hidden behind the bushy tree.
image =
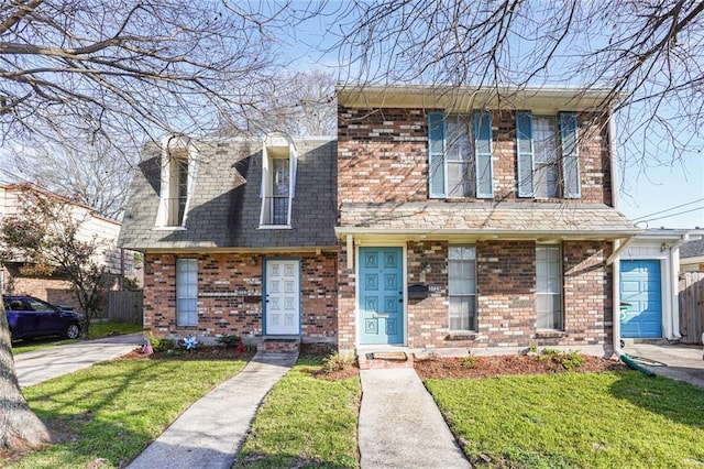
<svg viewBox="0 0 704 469">
<path fill-rule="evenodd" d="M 15 215 L 18 210 L 21 210 L 21 200 L 28 190 L 66 204 L 66 208 L 72 209 L 73 215 L 81 221 L 78 236 L 85 240 L 97 238 L 105 243 L 105 250 L 98 262 L 103 262 L 107 265 L 110 285 L 117 285 L 120 275 L 131 274 L 131 254 L 122 254 L 117 248 L 120 222 L 98 215 L 92 207 L 74 203 L 63 196 L 28 184 L 0 185 L 0 222 L 3 217 Z M 121 255 L 124 255 L 124 259 L 121 260 Z M 26 264 L 19 259 L 2 265 L 0 286 L 3 294 L 26 294 L 50 303 L 78 307 L 78 303 L 70 292 L 70 282 L 66 276 L 61 273 L 55 273 L 52 276 L 37 276 L 31 269 L 25 268 Z"/>
</svg>

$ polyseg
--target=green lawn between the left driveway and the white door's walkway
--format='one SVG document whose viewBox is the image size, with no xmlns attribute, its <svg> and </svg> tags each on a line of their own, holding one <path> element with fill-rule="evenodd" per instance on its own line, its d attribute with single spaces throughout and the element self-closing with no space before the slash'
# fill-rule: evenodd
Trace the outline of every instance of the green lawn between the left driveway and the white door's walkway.
<svg viewBox="0 0 704 469">
<path fill-rule="evenodd" d="M 244 360 L 114 360 L 24 389 L 32 410 L 64 443 L 25 455 L 18 468 L 121 467 Z M 1 462 L 1 461 L 0 461 Z M 102 467 L 102 466 L 101 466 Z"/>
</svg>

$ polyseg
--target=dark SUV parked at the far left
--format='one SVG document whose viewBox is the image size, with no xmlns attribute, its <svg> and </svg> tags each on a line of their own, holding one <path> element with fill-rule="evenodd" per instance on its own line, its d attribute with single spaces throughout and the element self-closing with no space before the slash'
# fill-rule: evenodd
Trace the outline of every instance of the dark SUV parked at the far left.
<svg viewBox="0 0 704 469">
<path fill-rule="evenodd" d="M 80 335 L 80 315 L 28 295 L 2 295 L 12 340 L 40 336 Z"/>
</svg>

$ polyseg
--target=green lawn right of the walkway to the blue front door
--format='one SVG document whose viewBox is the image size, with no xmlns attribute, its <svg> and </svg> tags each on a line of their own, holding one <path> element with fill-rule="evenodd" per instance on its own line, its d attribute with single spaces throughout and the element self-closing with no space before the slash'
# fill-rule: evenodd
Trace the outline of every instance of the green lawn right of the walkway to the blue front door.
<svg viewBox="0 0 704 469">
<path fill-rule="evenodd" d="M 426 386 L 472 462 L 704 465 L 704 391 L 686 383 L 631 371 L 427 380 Z"/>
</svg>

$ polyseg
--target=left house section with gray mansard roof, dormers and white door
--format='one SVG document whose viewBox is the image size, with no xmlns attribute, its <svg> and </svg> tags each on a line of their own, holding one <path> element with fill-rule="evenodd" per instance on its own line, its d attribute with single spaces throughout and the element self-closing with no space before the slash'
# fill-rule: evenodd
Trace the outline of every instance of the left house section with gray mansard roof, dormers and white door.
<svg viewBox="0 0 704 469">
<path fill-rule="evenodd" d="M 164 139 L 132 183 L 120 246 L 144 253 L 144 330 L 337 339 L 331 139 Z"/>
</svg>

